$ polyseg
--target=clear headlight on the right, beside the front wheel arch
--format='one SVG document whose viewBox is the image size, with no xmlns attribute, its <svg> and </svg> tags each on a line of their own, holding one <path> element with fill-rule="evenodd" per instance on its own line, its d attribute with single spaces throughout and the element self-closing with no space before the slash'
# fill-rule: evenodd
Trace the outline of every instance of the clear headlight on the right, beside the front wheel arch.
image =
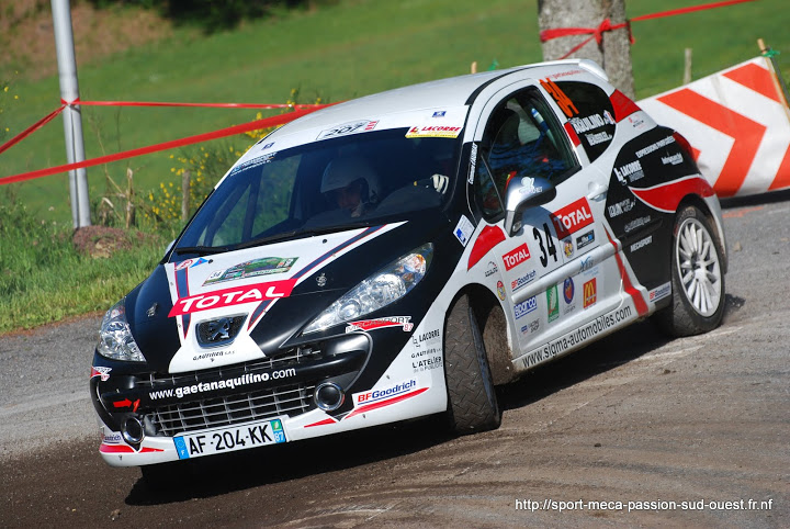
<svg viewBox="0 0 790 529">
<path fill-rule="evenodd" d="M 304 334 L 351 322 L 406 295 L 425 277 L 433 245 L 428 243 L 379 270 L 320 313 Z"/>
</svg>

